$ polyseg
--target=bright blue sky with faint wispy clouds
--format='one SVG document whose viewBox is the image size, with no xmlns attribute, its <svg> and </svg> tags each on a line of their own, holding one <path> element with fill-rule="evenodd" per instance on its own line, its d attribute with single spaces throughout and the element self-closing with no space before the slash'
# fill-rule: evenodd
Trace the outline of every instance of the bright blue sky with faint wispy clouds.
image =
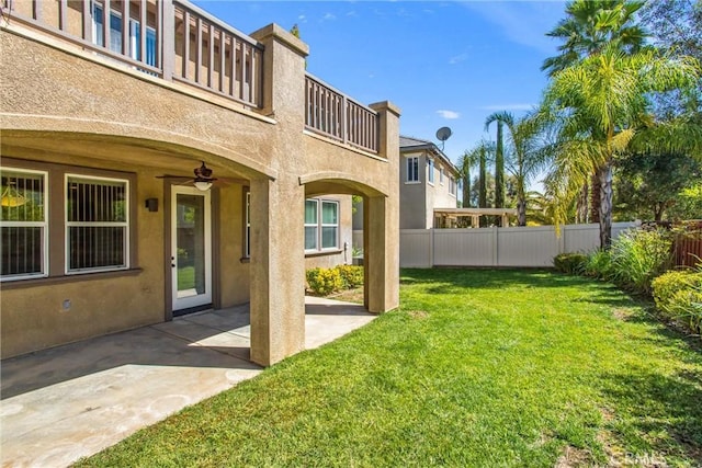
<svg viewBox="0 0 702 468">
<path fill-rule="evenodd" d="M 558 43 L 544 34 L 564 16 L 561 1 L 204 1 L 195 3 L 250 34 L 297 24 L 309 45 L 307 71 L 353 99 L 389 100 L 400 132 L 453 136 L 454 162 L 483 136 L 495 111 L 519 115 L 540 100 L 540 70 Z M 492 139 L 495 128 L 491 128 Z"/>
</svg>

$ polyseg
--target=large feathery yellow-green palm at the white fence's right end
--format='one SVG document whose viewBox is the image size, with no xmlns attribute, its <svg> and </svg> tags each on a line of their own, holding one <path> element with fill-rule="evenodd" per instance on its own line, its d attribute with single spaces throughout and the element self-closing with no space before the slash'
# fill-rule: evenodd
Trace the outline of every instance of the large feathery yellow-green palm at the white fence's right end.
<svg viewBox="0 0 702 468">
<path fill-rule="evenodd" d="M 700 79 L 697 60 L 654 49 L 626 55 L 611 44 L 557 72 L 544 94 L 542 114 L 561 123 L 558 148 L 546 185 L 558 224 L 565 208 L 593 172 L 600 186 L 600 246 L 611 241 L 612 162 L 635 137 L 656 128 L 648 114 L 656 92 L 691 89 Z"/>
</svg>

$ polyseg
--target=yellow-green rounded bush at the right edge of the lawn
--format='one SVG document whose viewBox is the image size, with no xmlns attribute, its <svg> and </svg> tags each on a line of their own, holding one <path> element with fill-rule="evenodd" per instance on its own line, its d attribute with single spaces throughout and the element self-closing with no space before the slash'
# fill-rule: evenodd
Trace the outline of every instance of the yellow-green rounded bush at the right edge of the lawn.
<svg viewBox="0 0 702 468">
<path fill-rule="evenodd" d="M 661 312 L 693 333 L 702 332 L 702 272 L 668 272 L 655 278 L 652 288 Z"/>
</svg>

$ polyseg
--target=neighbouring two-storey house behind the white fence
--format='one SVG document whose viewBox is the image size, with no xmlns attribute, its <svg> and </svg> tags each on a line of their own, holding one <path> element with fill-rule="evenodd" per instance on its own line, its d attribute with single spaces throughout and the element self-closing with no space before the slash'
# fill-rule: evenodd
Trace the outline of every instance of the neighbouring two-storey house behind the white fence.
<svg viewBox="0 0 702 468">
<path fill-rule="evenodd" d="M 434 209 L 456 208 L 458 170 L 442 150 L 431 141 L 399 137 L 399 225 L 400 229 L 453 227 L 455 220 Z M 353 229 L 361 244 L 363 206 L 356 206 Z"/>
</svg>

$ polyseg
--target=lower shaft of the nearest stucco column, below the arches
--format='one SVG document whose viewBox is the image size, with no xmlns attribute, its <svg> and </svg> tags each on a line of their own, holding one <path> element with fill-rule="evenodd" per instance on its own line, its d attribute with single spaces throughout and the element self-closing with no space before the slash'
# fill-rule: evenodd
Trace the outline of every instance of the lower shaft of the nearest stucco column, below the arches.
<svg viewBox="0 0 702 468">
<path fill-rule="evenodd" d="M 274 364 L 305 346 L 305 190 L 251 181 L 251 361 Z"/>
</svg>

